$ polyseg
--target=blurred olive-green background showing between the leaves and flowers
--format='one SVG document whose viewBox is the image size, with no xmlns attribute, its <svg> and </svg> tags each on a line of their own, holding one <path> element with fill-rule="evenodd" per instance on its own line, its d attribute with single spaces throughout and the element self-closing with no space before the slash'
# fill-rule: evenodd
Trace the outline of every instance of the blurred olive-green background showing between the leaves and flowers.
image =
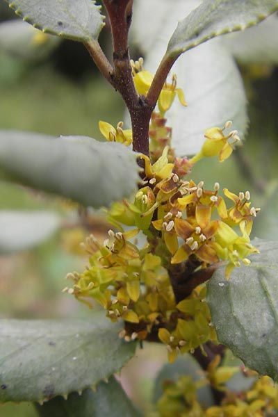
<svg viewBox="0 0 278 417">
<path fill-rule="evenodd" d="M 16 17 L 2 1 L 0 22 L 8 19 Z M 108 36 L 106 30 L 101 34 L 106 51 Z M 140 51 L 132 54 L 138 58 Z M 204 159 L 192 177 L 205 179 L 207 188 L 219 181 L 235 193 L 250 190 L 252 202 L 262 208 L 253 236 L 271 240 L 278 233 L 278 68 L 268 63 L 245 64 L 240 71 L 250 117 L 244 146 L 224 164 Z M 101 140 L 99 120 L 115 125 L 123 113 L 120 97 L 98 74 L 82 44 L 58 42 L 44 59 L 24 59 L 1 49 L 0 36 L 0 129 L 54 136 L 79 134 Z M 81 270 L 86 263 L 79 242 L 92 231 L 104 239 L 109 228 L 104 217 L 99 220 L 98 213 L 85 214 L 70 202 L 0 181 L 0 210 L 9 209 L 56 211 L 63 218 L 63 227 L 32 250 L 0 256 L 0 317 L 90 318 L 90 311 L 62 289 L 67 272 Z M 126 390 L 146 410 L 152 379 L 164 357 L 161 346 L 145 347 L 122 375 Z M 0 417 L 12 416 L 33 417 L 35 411 L 31 404 L 0 405 Z"/>
</svg>

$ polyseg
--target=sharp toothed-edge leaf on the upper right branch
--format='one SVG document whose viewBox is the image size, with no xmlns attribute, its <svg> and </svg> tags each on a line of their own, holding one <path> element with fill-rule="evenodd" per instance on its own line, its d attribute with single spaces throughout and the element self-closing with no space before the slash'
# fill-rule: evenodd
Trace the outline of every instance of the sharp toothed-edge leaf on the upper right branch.
<svg viewBox="0 0 278 417">
<path fill-rule="evenodd" d="M 175 58 L 215 36 L 243 31 L 278 10 L 277 0 L 205 0 L 179 22 L 166 56 Z"/>
</svg>

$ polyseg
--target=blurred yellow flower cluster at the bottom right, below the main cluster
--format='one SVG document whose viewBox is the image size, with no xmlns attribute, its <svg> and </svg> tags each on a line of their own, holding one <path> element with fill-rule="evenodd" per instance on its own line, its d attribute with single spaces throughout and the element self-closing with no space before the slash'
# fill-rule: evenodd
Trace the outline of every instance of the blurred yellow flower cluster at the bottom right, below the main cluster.
<svg viewBox="0 0 278 417">
<path fill-rule="evenodd" d="M 227 382 L 239 368 L 220 366 L 218 374 L 222 382 Z M 224 375 L 224 377 L 222 377 Z M 167 381 L 164 392 L 158 400 L 159 417 L 261 417 L 277 416 L 278 387 L 270 377 L 257 379 L 250 390 L 231 392 L 225 389 L 220 405 L 207 407 L 199 402 L 197 391 L 210 382 L 208 372 L 206 379 L 193 381 L 190 376 L 180 377 L 177 382 Z"/>
</svg>

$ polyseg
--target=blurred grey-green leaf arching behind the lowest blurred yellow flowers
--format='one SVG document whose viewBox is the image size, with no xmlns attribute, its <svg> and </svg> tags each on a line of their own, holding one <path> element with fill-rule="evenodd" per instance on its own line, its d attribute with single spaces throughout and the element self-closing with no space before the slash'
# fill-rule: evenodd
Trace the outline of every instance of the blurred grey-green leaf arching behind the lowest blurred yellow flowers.
<svg viewBox="0 0 278 417">
<path fill-rule="evenodd" d="M 203 370 L 199 363 L 190 355 L 183 354 L 178 357 L 174 363 L 166 363 L 161 371 L 156 376 L 156 383 L 154 386 L 154 402 L 158 402 L 163 395 L 163 384 L 165 381 L 177 382 L 179 377 L 189 375 L 193 381 L 198 381 L 204 377 Z M 214 404 L 211 387 L 208 385 L 202 386 L 197 391 L 198 401 L 203 406 L 211 406 Z"/>
</svg>

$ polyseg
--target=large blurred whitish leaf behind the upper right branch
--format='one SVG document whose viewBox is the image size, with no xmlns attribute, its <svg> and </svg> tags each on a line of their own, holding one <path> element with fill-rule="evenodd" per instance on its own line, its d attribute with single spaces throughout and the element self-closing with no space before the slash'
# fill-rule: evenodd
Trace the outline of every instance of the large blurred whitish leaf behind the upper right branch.
<svg viewBox="0 0 278 417">
<path fill-rule="evenodd" d="M 133 39 L 138 42 L 142 18 L 148 13 L 147 8 L 151 7 L 149 13 L 152 14 L 156 14 L 156 8 L 159 10 L 154 26 L 149 25 L 152 28 L 146 27 L 142 33 L 144 44 L 141 47 L 146 51 L 146 70 L 156 71 L 180 15 L 189 13 L 196 5 L 195 0 L 155 0 L 152 6 L 147 0 L 135 3 Z M 155 41 L 151 42 L 147 38 Z M 173 129 L 172 145 L 177 155 L 199 152 L 204 142 L 204 130 L 212 126 L 222 127 L 227 120 L 233 121 L 232 129 L 237 129 L 239 136 L 244 136 L 247 111 L 243 82 L 222 39 L 206 42 L 188 51 L 174 64 L 172 73 L 177 74 L 177 86 L 183 89 L 188 103 L 187 107 L 183 107 L 176 99 L 166 113 L 167 124 Z"/>
</svg>

